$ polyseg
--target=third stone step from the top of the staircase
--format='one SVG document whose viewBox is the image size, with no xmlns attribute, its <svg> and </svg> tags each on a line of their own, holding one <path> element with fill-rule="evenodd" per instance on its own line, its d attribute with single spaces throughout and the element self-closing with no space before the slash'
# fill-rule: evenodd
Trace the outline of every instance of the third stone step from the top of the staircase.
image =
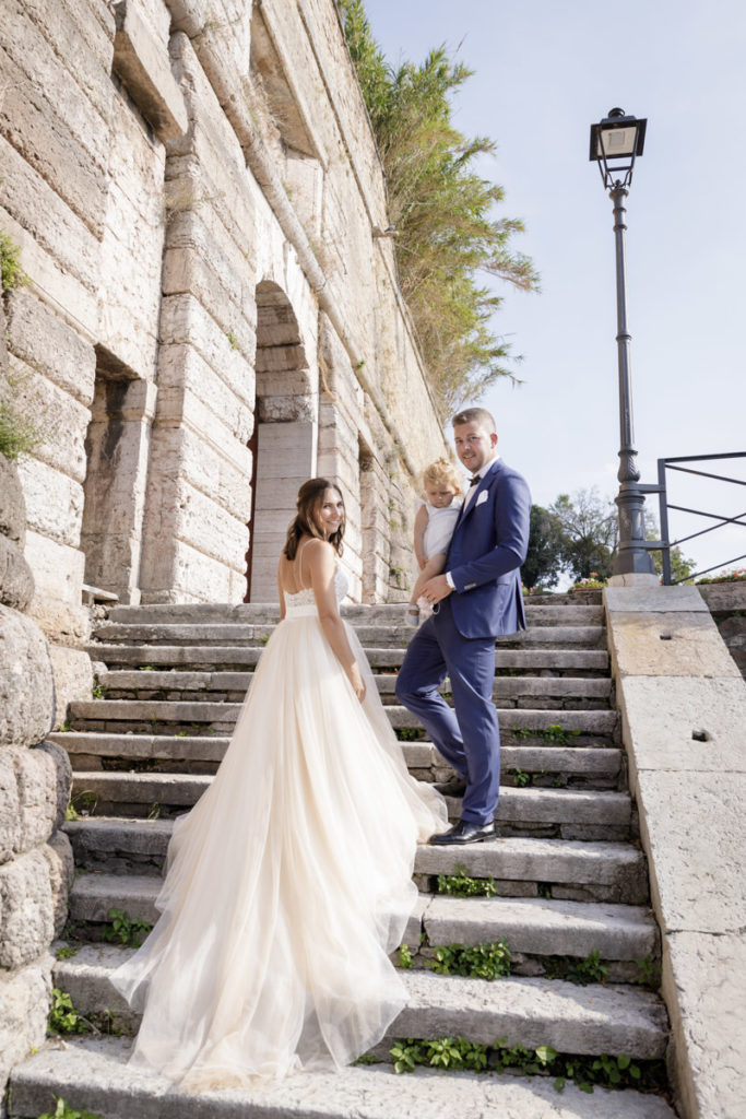
<svg viewBox="0 0 746 1119">
<path fill-rule="evenodd" d="M 92 642 L 87 646 L 91 658 L 96 664 L 111 667 L 136 667 L 143 669 L 189 668 L 198 671 L 240 671 L 253 668 L 262 656 L 263 646 L 251 645 L 114 645 Z M 366 656 L 374 671 L 383 668 L 398 668 L 404 660 L 405 647 L 366 649 Z M 523 673 L 607 673 L 608 653 L 605 649 L 495 649 L 497 671 Z"/>
</svg>

